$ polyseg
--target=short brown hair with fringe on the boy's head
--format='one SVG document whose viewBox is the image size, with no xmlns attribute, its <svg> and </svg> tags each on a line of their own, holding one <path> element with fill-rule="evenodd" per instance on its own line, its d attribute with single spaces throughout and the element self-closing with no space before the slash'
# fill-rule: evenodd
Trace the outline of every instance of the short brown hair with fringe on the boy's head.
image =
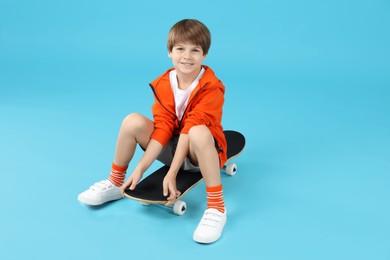
<svg viewBox="0 0 390 260">
<path fill-rule="evenodd" d="M 168 51 L 171 52 L 176 44 L 186 42 L 201 46 L 203 54 L 206 55 L 211 45 L 209 29 L 195 19 L 184 19 L 177 22 L 168 34 Z"/>
</svg>

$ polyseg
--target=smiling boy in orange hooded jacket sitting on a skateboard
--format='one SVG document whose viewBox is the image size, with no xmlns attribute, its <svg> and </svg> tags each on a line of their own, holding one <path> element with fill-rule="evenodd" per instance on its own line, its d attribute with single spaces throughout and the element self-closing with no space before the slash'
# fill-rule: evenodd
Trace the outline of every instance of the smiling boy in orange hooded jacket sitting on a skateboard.
<svg viewBox="0 0 390 260">
<path fill-rule="evenodd" d="M 172 203 L 180 195 L 176 175 L 180 168 L 201 171 L 206 184 L 207 209 L 194 231 L 199 243 L 219 239 L 226 222 L 220 169 L 226 162 L 226 140 L 221 125 L 225 88 L 202 65 L 211 44 L 207 27 L 197 20 L 177 22 L 168 34 L 168 56 L 174 68 L 154 80 L 153 121 L 128 115 L 119 130 L 114 162 L 107 180 L 95 183 L 78 196 L 79 201 L 100 205 L 135 189 L 154 160 L 169 165 L 163 193 Z M 145 151 L 124 183 L 136 145 Z"/>
</svg>

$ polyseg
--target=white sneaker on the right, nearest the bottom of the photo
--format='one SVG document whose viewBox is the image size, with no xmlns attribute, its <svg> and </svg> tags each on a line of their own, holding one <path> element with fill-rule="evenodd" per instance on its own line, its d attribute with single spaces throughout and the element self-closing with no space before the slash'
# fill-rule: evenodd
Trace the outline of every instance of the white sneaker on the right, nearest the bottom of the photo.
<svg viewBox="0 0 390 260">
<path fill-rule="evenodd" d="M 194 240 L 198 243 L 208 244 L 217 241 L 226 223 L 225 213 L 216 209 L 206 209 L 198 227 L 194 231 Z"/>
</svg>

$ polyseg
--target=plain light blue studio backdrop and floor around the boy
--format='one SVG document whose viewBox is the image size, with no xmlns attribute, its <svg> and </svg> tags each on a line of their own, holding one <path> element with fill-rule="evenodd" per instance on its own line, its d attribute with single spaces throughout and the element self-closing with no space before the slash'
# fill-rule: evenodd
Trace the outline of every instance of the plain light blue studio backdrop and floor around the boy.
<svg viewBox="0 0 390 260">
<path fill-rule="evenodd" d="M 181 217 L 77 201 L 123 117 L 150 116 L 188 17 L 212 32 L 225 128 L 247 137 L 208 246 L 204 184 Z M 0 0 L 1 258 L 390 259 L 389 28 L 388 0 Z"/>
</svg>

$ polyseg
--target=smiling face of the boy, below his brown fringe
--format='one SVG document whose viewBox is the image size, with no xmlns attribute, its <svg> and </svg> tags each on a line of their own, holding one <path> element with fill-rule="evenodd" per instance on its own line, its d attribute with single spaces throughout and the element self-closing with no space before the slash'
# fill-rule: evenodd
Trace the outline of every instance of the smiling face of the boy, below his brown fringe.
<svg viewBox="0 0 390 260">
<path fill-rule="evenodd" d="M 178 75 L 199 74 L 202 62 L 206 59 L 202 47 L 191 43 L 180 43 L 168 52 Z"/>
</svg>

